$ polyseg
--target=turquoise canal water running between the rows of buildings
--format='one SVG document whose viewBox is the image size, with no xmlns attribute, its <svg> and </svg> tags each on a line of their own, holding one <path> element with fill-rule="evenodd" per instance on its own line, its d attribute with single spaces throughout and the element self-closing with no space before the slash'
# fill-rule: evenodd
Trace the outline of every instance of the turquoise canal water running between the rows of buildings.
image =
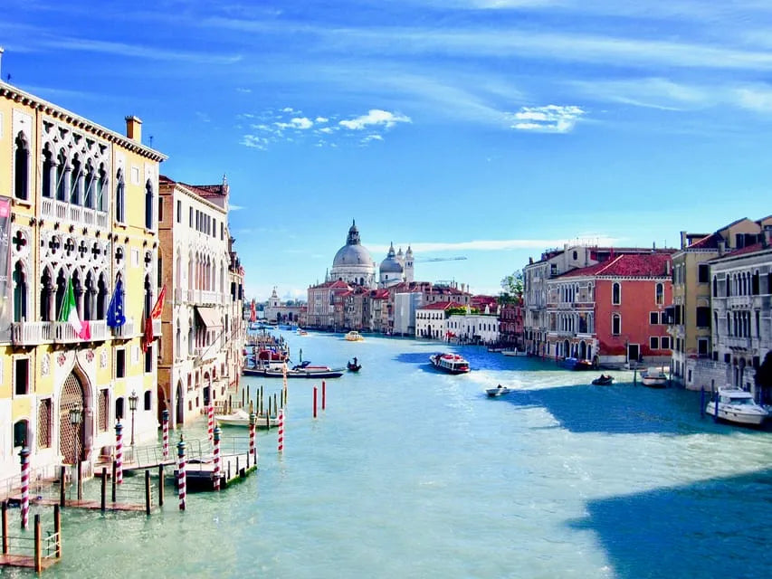
<svg viewBox="0 0 772 579">
<path fill-rule="evenodd" d="M 363 368 L 327 381 L 316 420 L 320 384 L 291 380 L 283 455 L 277 432 L 260 432 L 257 475 L 189 495 L 185 513 L 171 486 L 151 517 L 67 509 L 64 558 L 47 574 L 772 576 L 772 434 L 701 418 L 699 393 L 629 372 L 593 386 L 479 346 L 454 348 L 470 375 L 443 375 L 428 365 L 437 343 L 281 334 L 295 361 L 302 348 Z M 487 398 L 496 384 L 515 391 Z M 186 438 L 205 437 L 204 422 Z"/>
</svg>

